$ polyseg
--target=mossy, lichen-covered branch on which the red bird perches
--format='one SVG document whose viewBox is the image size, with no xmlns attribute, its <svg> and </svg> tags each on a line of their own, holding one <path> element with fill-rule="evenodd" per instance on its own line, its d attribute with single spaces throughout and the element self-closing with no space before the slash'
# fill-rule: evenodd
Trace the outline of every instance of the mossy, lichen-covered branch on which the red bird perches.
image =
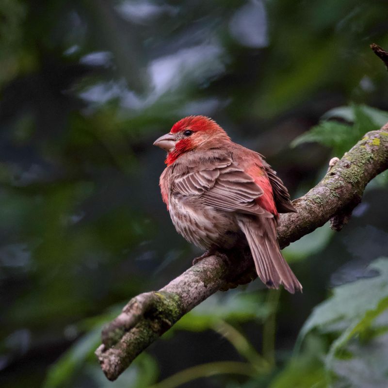
<svg viewBox="0 0 388 388">
<path fill-rule="evenodd" d="M 367 183 L 388 168 L 388 124 L 368 132 L 336 162 L 306 195 L 293 201 L 297 213 L 282 214 L 278 227 L 281 248 L 327 221 L 339 229 L 361 201 Z M 346 215 L 346 217 L 345 217 Z M 340 225 L 341 226 L 341 225 Z M 252 267 L 246 252 L 230 255 L 231 263 L 210 256 L 171 281 L 160 291 L 132 298 L 122 313 L 102 331 L 96 350 L 101 368 L 115 380 L 133 359 L 184 314 Z"/>
</svg>

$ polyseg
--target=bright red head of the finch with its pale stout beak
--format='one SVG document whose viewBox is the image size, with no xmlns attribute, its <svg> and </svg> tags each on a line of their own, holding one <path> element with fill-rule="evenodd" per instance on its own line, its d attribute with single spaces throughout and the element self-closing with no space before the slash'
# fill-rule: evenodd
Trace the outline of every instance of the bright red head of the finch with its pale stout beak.
<svg viewBox="0 0 388 388">
<path fill-rule="evenodd" d="M 189 116 L 173 125 L 169 133 L 154 142 L 167 151 L 165 163 L 174 163 L 183 153 L 201 146 L 217 145 L 217 142 L 230 138 L 214 120 L 205 116 Z"/>
</svg>

